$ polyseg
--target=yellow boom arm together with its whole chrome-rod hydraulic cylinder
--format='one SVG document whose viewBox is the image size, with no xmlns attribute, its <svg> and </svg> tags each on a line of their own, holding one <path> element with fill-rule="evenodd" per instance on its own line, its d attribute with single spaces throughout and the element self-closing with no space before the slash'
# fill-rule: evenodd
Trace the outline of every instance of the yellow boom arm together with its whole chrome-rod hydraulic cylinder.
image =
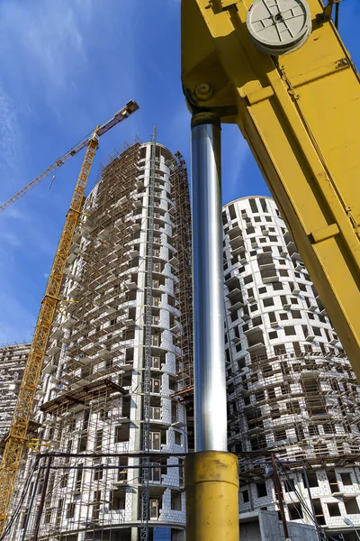
<svg viewBox="0 0 360 541">
<path fill-rule="evenodd" d="M 182 0 L 192 119 L 194 410 L 187 541 L 238 541 L 227 453 L 220 124 L 238 124 L 360 377 L 360 79 L 329 0 Z"/>
</svg>

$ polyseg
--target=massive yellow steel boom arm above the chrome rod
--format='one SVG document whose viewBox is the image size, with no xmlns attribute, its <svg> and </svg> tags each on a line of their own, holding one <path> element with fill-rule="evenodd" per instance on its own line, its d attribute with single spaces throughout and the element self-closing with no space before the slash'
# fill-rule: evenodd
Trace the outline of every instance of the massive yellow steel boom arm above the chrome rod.
<svg viewBox="0 0 360 541">
<path fill-rule="evenodd" d="M 182 80 L 193 113 L 238 124 L 360 378 L 360 81 L 337 2 L 182 0 Z"/>
</svg>

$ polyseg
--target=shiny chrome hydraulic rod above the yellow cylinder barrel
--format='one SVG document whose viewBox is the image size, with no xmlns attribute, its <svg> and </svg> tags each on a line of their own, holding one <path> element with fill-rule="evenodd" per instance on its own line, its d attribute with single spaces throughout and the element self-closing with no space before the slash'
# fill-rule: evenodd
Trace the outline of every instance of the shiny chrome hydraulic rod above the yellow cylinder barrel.
<svg viewBox="0 0 360 541">
<path fill-rule="evenodd" d="M 227 451 L 220 118 L 192 121 L 193 353 L 196 451 Z"/>
</svg>

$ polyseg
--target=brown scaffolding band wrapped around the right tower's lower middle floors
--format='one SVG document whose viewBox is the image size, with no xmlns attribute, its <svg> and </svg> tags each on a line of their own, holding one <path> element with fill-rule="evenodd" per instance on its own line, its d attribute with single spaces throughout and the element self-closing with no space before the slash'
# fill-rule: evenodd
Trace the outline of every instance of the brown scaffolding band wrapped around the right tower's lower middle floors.
<svg viewBox="0 0 360 541">
<path fill-rule="evenodd" d="M 229 379 L 229 446 L 284 459 L 336 463 L 358 455 L 360 387 L 343 353 L 299 343 L 251 359 Z"/>
</svg>

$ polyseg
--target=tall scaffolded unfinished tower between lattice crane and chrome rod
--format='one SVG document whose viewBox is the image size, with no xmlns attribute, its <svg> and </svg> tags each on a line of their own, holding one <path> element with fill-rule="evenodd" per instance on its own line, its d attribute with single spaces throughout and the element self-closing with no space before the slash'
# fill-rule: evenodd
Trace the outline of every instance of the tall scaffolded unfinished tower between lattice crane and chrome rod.
<svg viewBox="0 0 360 541">
<path fill-rule="evenodd" d="M 109 157 L 62 297 L 36 400 L 41 454 L 24 460 L 5 538 L 182 540 L 186 413 L 172 395 L 193 363 L 179 153 L 134 139 Z"/>
</svg>

